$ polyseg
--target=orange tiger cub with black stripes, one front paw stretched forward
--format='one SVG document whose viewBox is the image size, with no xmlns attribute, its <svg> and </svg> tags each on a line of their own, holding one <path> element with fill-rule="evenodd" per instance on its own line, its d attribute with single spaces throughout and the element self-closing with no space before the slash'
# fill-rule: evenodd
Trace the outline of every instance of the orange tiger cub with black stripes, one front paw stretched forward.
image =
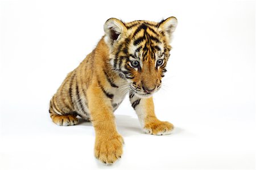
<svg viewBox="0 0 256 170">
<path fill-rule="evenodd" d="M 123 152 L 113 112 L 127 93 L 146 133 L 170 134 L 174 126 L 156 118 L 152 94 L 161 87 L 176 26 L 175 17 L 160 23 L 108 19 L 96 48 L 52 97 L 52 121 L 60 126 L 78 124 L 77 116 L 91 121 L 96 133 L 94 154 L 105 164 L 114 163 Z"/>
</svg>

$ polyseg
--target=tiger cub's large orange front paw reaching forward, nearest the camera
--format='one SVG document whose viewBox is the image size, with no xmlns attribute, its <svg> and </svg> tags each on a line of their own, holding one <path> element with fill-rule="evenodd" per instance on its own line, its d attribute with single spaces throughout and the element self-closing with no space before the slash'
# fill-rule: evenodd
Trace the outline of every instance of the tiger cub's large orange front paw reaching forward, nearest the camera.
<svg viewBox="0 0 256 170">
<path fill-rule="evenodd" d="M 121 135 L 112 137 L 100 136 L 96 138 L 94 154 L 98 160 L 105 164 L 113 164 L 121 158 L 123 153 L 123 138 Z"/>
</svg>

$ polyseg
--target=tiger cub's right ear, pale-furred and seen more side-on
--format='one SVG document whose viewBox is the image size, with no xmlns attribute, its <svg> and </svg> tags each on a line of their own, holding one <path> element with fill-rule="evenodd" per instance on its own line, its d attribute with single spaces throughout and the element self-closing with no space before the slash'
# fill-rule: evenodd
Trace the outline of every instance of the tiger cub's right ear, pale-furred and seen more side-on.
<svg viewBox="0 0 256 170">
<path fill-rule="evenodd" d="M 168 41 L 171 41 L 172 33 L 177 27 L 177 19 L 174 16 L 167 18 L 159 23 L 159 28 L 168 37 Z"/>
</svg>

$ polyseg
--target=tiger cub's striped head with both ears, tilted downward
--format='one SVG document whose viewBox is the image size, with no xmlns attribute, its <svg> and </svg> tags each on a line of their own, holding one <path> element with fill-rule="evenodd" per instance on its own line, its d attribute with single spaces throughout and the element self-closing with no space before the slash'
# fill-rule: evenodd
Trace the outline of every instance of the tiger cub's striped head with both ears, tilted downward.
<svg viewBox="0 0 256 170">
<path fill-rule="evenodd" d="M 137 20 L 123 23 L 110 18 L 104 25 L 104 40 L 110 50 L 110 63 L 129 82 L 129 90 L 139 97 L 158 91 L 170 56 L 175 17 L 160 23 Z"/>
</svg>

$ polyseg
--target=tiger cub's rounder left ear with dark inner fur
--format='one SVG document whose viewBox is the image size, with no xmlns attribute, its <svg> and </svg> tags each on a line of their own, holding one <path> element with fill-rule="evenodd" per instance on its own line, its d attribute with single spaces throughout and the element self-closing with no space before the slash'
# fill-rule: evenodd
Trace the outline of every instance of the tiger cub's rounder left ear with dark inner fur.
<svg viewBox="0 0 256 170">
<path fill-rule="evenodd" d="M 112 46 L 115 41 L 118 41 L 123 35 L 125 35 L 127 28 L 121 20 L 116 18 L 110 18 L 104 24 L 105 42 Z"/>
</svg>

